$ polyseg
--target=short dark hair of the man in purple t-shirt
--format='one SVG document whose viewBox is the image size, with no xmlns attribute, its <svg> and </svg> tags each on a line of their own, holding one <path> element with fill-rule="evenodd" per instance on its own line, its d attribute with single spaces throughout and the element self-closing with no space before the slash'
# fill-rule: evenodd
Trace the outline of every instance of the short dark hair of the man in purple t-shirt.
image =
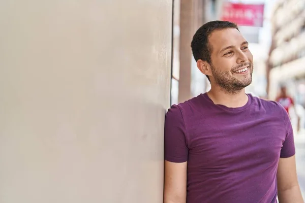
<svg viewBox="0 0 305 203">
<path fill-rule="evenodd" d="M 212 48 L 208 44 L 208 38 L 213 31 L 227 28 L 235 28 L 239 31 L 235 23 L 220 20 L 207 22 L 196 31 L 191 43 L 193 56 L 196 61 L 201 59 L 211 64 Z M 210 81 L 209 77 L 206 77 Z"/>
</svg>

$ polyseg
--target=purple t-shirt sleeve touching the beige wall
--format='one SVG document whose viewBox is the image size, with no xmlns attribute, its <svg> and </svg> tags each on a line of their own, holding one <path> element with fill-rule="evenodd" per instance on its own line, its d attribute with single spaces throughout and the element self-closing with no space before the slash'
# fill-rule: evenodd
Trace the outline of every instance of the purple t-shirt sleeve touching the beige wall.
<svg viewBox="0 0 305 203">
<path fill-rule="evenodd" d="M 177 105 L 173 105 L 165 116 L 164 156 L 170 162 L 188 161 L 187 130 L 182 113 Z"/>
</svg>

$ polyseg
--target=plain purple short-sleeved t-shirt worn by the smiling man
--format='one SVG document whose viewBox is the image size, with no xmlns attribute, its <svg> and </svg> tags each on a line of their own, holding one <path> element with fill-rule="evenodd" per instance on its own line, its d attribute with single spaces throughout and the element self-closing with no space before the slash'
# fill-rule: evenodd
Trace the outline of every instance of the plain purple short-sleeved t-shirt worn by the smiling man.
<svg viewBox="0 0 305 203">
<path fill-rule="evenodd" d="M 279 159 L 295 154 L 285 109 L 248 94 L 239 108 L 206 93 L 173 105 L 165 119 L 165 160 L 188 161 L 188 203 L 277 202 Z"/>
</svg>

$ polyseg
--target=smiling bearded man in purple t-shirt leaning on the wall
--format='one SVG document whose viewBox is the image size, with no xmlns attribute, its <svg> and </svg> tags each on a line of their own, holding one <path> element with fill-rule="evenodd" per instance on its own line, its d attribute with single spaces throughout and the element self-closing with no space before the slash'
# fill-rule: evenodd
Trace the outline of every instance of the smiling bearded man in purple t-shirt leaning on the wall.
<svg viewBox="0 0 305 203">
<path fill-rule="evenodd" d="M 245 93 L 253 56 L 237 26 L 208 22 L 191 47 L 211 90 L 166 114 L 164 203 L 303 203 L 289 117 Z"/>
</svg>

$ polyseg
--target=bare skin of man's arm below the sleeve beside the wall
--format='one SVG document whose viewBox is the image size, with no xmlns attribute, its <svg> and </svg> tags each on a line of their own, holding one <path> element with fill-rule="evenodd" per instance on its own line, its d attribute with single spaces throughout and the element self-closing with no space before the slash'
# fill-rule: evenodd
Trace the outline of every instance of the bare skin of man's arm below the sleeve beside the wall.
<svg viewBox="0 0 305 203">
<path fill-rule="evenodd" d="M 186 203 L 187 162 L 165 161 L 164 203 Z"/>
</svg>

